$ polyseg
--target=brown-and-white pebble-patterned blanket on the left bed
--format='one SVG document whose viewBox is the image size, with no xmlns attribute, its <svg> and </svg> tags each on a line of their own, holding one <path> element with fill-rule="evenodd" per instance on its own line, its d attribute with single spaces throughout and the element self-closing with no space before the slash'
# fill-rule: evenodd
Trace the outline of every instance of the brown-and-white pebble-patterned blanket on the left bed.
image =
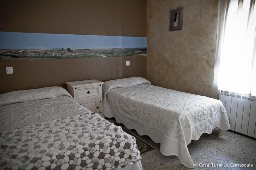
<svg viewBox="0 0 256 170">
<path fill-rule="evenodd" d="M 0 169 L 121 169 L 140 159 L 136 139 L 96 113 L 0 133 Z"/>
</svg>

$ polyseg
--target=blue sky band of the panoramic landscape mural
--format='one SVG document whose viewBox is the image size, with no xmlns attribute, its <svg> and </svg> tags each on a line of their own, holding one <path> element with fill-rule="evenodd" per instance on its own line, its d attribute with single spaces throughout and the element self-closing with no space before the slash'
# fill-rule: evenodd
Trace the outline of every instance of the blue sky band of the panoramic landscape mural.
<svg viewBox="0 0 256 170">
<path fill-rule="evenodd" d="M 0 49 L 101 49 L 146 47 L 146 37 L 18 33 L 0 31 Z"/>
</svg>

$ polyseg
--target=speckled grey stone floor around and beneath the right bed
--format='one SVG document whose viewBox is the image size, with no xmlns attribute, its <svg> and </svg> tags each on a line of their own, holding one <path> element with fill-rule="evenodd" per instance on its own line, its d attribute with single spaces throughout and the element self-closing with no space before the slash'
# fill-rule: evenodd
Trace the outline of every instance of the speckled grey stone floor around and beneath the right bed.
<svg viewBox="0 0 256 170">
<path fill-rule="evenodd" d="M 111 122 L 113 121 L 115 120 L 111 119 Z M 144 170 L 189 169 L 180 163 L 178 157 L 162 155 L 159 150 L 160 144 L 154 143 L 148 136 L 139 136 L 135 130 L 131 130 L 131 133 L 154 148 L 152 151 L 141 154 Z M 193 141 L 188 145 L 188 150 L 194 163 L 222 163 L 222 167 L 195 167 L 194 169 L 256 169 L 255 139 L 230 131 L 219 138 L 217 133 L 216 129 L 210 135 L 203 134 L 198 141 Z M 252 163 L 254 167 L 223 167 L 224 163 L 225 165 Z"/>
</svg>

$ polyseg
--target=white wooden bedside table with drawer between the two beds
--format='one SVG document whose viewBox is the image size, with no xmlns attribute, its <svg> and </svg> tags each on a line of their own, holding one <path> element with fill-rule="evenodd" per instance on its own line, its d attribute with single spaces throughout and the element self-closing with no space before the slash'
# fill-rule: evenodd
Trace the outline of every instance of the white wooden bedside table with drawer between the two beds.
<svg viewBox="0 0 256 170">
<path fill-rule="evenodd" d="M 94 113 L 103 114 L 102 84 L 98 80 L 67 82 L 68 92 L 76 102 Z"/>
</svg>

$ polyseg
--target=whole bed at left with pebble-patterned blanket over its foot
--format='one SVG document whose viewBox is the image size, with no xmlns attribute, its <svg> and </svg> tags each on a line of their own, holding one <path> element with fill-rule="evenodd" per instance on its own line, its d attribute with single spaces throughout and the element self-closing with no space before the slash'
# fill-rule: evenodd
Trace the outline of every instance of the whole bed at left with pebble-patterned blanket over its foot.
<svg viewBox="0 0 256 170">
<path fill-rule="evenodd" d="M 142 170 L 136 139 L 61 87 L 1 94 L 0 105 L 0 169 Z"/>
</svg>

